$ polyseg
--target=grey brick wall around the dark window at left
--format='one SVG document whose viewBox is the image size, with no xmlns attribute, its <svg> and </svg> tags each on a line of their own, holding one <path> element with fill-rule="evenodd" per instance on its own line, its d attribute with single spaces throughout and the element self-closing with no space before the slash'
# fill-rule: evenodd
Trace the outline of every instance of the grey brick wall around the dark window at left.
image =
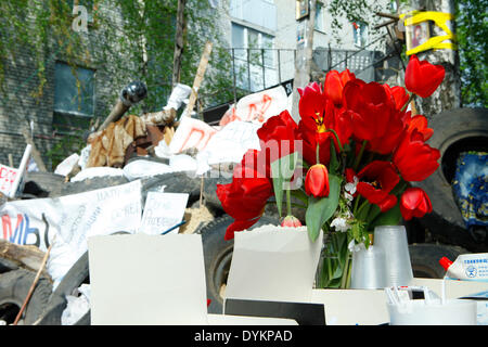
<svg viewBox="0 0 488 347">
<path fill-rule="evenodd" d="M 114 25 L 121 26 L 123 18 L 116 7 L 111 5 L 108 2 L 105 7 L 101 7 L 99 11 L 102 11 L 106 18 L 113 20 Z M 98 56 L 99 48 L 102 44 L 111 44 L 105 42 L 103 26 L 89 26 L 88 29 L 88 34 L 82 34 L 84 46 L 79 47 L 79 52 L 82 53 L 88 48 L 91 59 L 88 65 L 85 62 L 80 62 L 79 65 L 95 70 L 94 117 L 100 117 L 103 120 L 115 104 L 124 83 L 116 81 L 117 74 L 114 70 L 115 67 L 111 66 L 111 62 L 105 62 L 103 57 Z M 111 46 L 115 52 L 117 50 L 116 44 Z M 28 129 L 29 121 L 34 120 L 36 147 L 41 153 L 48 170 L 54 170 L 55 168 L 52 167 L 47 153 L 60 139 L 53 136 L 54 69 L 56 61 L 65 61 L 65 59 L 54 40 L 47 44 L 46 51 L 42 53 L 47 82 L 40 98 L 33 97 L 33 93 L 39 87 L 38 66 L 34 48 L 26 46 L 16 47 L 15 54 L 3 61 L 4 82 L 0 89 L 1 164 L 9 165 L 8 157 L 9 154 L 12 154 L 14 166 L 20 165 L 26 146 L 22 129 Z"/>
</svg>

